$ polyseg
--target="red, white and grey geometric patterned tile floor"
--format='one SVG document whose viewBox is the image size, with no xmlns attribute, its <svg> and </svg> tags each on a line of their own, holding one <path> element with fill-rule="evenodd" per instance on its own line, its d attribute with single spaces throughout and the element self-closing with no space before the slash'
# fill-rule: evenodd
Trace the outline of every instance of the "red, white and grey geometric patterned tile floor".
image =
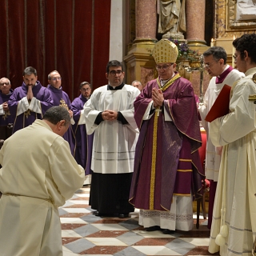
<svg viewBox="0 0 256 256">
<path fill-rule="evenodd" d="M 123 219 L 94 216 L 89 194 L 90 186 L 85 186 L 59 209 L 64 256 L 213 255 L 207 251 L 206 220 L 189 232 L 146 232 L 138 225 L 138 210 Z"/>
</svg>

